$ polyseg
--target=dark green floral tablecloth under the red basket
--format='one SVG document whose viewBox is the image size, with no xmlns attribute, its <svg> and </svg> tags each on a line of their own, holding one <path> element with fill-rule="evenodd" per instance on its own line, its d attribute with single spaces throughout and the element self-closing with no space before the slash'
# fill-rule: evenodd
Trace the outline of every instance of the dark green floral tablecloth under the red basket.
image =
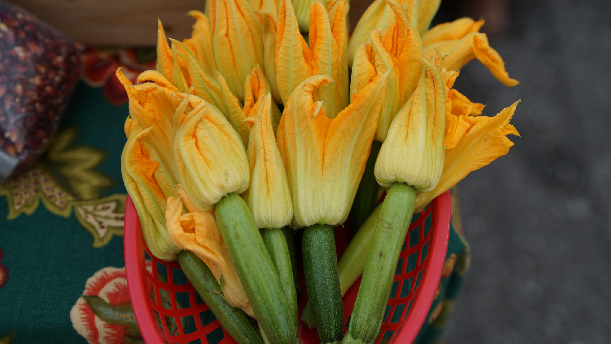
<svg viewBox="0 0 611 344">
<path fill-rule="evenodd" d="M 125 61 L 136 55 L 89 51 L 86 83 L 45 156 L 0 185 L 0 344 L 142 342 L 133 315 L 114 312 L 130 314 L 120 171 L 128 108 L 114 70 L 135 78 L 150 66 Z M 439 341 L 469 266 L 456 214 L 419 343 Z"/>
</svg>

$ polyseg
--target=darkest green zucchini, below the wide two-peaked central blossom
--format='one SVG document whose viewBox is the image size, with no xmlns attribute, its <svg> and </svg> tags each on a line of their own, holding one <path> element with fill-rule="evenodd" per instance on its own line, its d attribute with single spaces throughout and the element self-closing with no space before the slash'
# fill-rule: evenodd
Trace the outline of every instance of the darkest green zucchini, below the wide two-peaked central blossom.
<svg viewBox="0 0 611 344">
<path fill-rule="evenodd" d="M 335 237 L 329 225 L 312 225 L 302 238 L 305 290 L 321 343 L 343 338 L 343 305 L 337 274 Z"/>
</svg>

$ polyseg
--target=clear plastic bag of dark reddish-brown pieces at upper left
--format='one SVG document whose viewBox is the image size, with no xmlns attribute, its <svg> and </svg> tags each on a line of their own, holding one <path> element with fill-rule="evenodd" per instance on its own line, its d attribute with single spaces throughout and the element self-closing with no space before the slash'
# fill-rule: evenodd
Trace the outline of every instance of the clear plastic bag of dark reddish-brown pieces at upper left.
<svg viewBox="0 0 611 344">
<path fill-rule="evenodd" d="M 81 45 L 0 0 L 0 183 L 46 148 L 81 70 Z"/>
</svg>

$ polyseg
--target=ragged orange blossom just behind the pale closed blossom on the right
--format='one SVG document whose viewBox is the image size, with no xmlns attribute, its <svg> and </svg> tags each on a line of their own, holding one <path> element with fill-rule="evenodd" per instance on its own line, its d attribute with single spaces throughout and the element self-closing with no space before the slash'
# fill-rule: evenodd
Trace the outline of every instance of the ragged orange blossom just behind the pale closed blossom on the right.
<svg viewBox="0 0 611 344">
<path fill-rule="evenodd" d="M 387 4 L 395 13 L 395 19 L 382 31 L 371 32 L 370 43 L 363 43 L 357 50 L 350 92 L 359 91 L 373 75 L 390 71 L 384 90 L 384 102 L 378 120 L 375 140 L 383 142 L 395 114 L 409 99 L 422 74 L 422 43 L 418 32 L 408 26 L 408 13 L 396 2 Z"/>
</svg>

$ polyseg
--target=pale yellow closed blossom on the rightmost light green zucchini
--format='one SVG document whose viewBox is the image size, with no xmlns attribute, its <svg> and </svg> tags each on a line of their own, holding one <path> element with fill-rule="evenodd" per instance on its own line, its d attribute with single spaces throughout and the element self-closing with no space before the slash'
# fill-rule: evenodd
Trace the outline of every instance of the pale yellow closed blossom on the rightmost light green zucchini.
<svg viewBox="0 0 611 344">
<path fill-rule="evenodd" d="M 436 67 L 422 62 L 420 82 L 390 124 L 376 160 L 375 176 L 384 187 L 404 182 L 425 192 L 434 189 L 442 172 L 445 84 Z"/>
</svg>

